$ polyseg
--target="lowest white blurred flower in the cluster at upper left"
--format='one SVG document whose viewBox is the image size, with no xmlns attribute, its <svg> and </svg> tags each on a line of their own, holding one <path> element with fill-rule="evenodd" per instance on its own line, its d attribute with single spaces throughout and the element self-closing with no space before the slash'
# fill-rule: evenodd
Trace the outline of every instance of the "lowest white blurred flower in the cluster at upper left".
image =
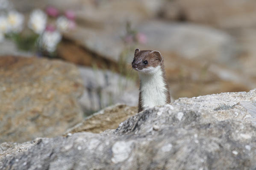
<svg viewBox="0 0 256 170">
<path fill-rule="evenodd" d="M 52 53 L 56 50 L 61 38 L 62 35 L 59 33 L 59 31 L 44 31 L 39 44 L 44 50 Z"/>
</svg>

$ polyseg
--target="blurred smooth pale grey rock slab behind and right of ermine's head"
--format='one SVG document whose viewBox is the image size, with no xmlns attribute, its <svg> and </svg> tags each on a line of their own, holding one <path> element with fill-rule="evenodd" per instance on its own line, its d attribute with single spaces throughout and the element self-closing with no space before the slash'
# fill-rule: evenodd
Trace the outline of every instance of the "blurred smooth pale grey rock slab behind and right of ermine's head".
<svg viewBox="0 0 256 170">
<path fill-rule="evenodd" d="M 147 37 L 144 48 L 173 52 L 188 59 L 230 62 L 235 57 L 235 42 L 224 31 L 191 23 L 151 21 L 138 26 Z M 139 47 L 140 45 L 138 45 Z"/>
</svg>

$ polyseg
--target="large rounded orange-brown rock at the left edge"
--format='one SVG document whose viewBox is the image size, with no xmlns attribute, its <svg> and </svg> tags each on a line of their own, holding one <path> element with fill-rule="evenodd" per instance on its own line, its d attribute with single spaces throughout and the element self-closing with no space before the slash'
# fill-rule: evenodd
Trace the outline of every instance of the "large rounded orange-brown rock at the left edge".
<svg viewBox="0 0 256 170">
<path fill-rule="evenodd" d="M 0 57 L 0 142 L 61 135 L 81 122 L 83 85 L 75 65 Z"/>
</svg>

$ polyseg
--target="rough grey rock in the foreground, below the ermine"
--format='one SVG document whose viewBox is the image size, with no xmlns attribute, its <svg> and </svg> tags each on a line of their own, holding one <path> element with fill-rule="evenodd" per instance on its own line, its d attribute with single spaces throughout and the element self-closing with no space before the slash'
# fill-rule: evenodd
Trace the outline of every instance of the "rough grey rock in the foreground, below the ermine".
<svg viewBox="0 0 256 170">
<path fill-rule="evenodd" d="M 256 89 L 180 98 L 116 130 L 38 140 L 0 169 L 255 169 L 255 131 Z"/>
</svg>

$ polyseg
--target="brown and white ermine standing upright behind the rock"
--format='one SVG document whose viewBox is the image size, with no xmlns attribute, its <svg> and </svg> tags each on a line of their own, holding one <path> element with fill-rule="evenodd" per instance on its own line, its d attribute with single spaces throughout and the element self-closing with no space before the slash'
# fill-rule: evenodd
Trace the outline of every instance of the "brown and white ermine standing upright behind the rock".
<svg viewBox="0 0 256 170">
<path fill-rule="evenodd" d="M 138 71 L 140 78 L 138 112 L 171 102 L 164 60 L 159 51 L 136 48 L 132 68 Z"/>
</svg>

